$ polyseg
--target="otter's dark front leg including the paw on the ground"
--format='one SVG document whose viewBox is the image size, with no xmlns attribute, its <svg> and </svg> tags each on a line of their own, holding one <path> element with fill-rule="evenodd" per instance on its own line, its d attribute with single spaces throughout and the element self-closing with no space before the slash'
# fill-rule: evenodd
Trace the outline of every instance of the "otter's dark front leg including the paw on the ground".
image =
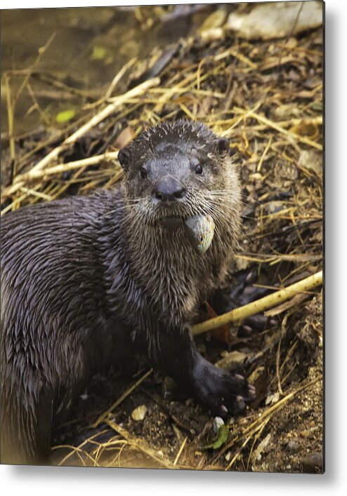
<svg viewBox="0 0 347 496">
<path fill-rule="evenodd" d="M 199 354 L 188 330 L 162 331 L 155 363 L 215 415 L 240 413 L 245 402 L 255 398 L 254 387 L 241 375 L 216 368 Z"/>
</svg>

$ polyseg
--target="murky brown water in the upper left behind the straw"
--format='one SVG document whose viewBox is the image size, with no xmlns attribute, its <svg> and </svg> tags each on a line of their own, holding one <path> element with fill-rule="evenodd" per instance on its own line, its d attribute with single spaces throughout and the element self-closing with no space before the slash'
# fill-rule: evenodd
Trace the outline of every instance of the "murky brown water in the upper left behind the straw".
<svg viewBox="0 0 347 496">
<path fill-rule="evenodd" d="M 32 91 L 25 86 L 15 102 L 13 134 L 18 136 L 39 126 L 57 126 L 58 112 L 74 109 L 78 116 L 86 99 L 67 88 L 57 88 L 52 80 L 88 91 L 90 101 L 97 100 L 131 58 L 143 60 L 156 46 L 164 47 L 190 32 L 192 18 L 189 16 L 162 24 L 162 15 L 173 8 L 1 11 L 1 136 L 8 131 L 5 74 L 9 74 L 9 93 L 15 100 L 25 79 L 23 69 L 32 69 L 35 73 L 29 81 Z M 52 35 L 53 40 L 35 64 L 40 47 L 46 46 Z M 119 91 L 124 91 L 122 84 L 125 83 L 120 83 Z"/>
</svg>

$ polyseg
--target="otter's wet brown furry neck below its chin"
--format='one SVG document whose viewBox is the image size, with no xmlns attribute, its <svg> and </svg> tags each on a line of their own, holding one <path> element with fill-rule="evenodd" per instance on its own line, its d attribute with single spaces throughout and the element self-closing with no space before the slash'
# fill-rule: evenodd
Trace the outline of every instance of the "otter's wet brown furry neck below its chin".
<svg viewBox="0 0 347 496">
<path fill-rule="evenodd" d="M 217 232 L 209 250 L 199 255 L 183 224 L 177 228 L 149 225 L 136 213 L 124 220 L 134 283 L 145 288 L 150 306 L 159 307 L 159 313 L 171 323 L 182 325 L 218 285 L 231 240 L 222 240 Z"/>
</svg>

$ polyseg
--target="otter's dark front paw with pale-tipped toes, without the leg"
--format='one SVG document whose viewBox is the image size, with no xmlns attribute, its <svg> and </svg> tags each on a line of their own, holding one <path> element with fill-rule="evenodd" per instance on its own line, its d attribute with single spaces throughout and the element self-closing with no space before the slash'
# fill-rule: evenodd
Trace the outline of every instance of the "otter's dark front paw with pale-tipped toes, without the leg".
<svg viewBox="0 0 347 496">
<path fill-rule="evenodd" d="M 195 394 L 214 415 L 241 413 L 245 403 L 256 397 L 256 389 L 239 374 L 231 374 L 199 357 L 192 371 Z"/>
</svg>

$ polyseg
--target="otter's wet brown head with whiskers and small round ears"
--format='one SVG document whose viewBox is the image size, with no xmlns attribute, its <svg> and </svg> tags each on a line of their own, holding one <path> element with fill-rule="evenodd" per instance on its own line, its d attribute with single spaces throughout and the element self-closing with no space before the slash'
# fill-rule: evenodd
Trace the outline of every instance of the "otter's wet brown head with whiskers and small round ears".
<svg viewBox="0 0 347 496">
<path fill-rule="evenodd" d="M 235 210 L 239 185 L 229 141 L 202 123 L 172 121 L 140 133 L 118 154 L 129 207 L 143 222 Z M 227 208 L 228 207 L 228 208 Z"/>
</svg>

